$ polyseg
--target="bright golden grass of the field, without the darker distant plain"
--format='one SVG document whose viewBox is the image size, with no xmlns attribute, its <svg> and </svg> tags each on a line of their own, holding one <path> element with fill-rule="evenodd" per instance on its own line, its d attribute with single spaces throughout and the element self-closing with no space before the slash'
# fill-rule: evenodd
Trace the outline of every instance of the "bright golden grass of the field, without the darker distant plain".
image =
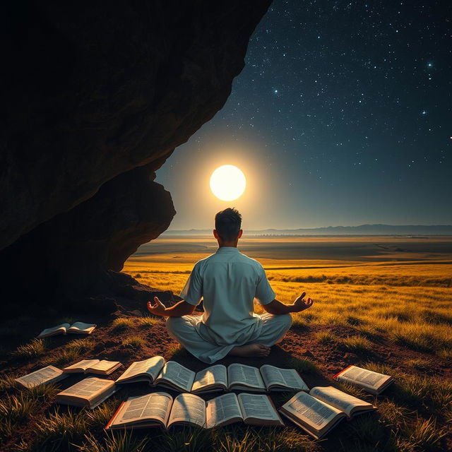
<svg viewBox="0 0 452 452">
<path fill-rule="evenodd" d="M 133 259 L 124 271 L 143 284 L 179 293 L 193 263 L 202 257 L 184 254 L 182 262 L 174 262 L 158 254 L 148 262 Z M 293 316 L 295 323 L 359 326 L 364 336 L 388 333 L 394 342 L 412 350 L 452 358 L 452 261 L 303 261 L 302 265 L 291 261 L 285 263 L 287 268 L 279 260 L 259 261 L 278 299 L 292 302 L 306 291 L 316 300 L 315 307 Z"/>
</svg>

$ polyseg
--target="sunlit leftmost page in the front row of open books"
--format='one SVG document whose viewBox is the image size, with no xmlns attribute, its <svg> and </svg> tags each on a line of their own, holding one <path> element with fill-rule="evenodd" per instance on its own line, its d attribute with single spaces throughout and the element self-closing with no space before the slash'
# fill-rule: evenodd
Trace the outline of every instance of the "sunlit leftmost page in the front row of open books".
<svg viewBox="0 0 452 452">
<path fill-rule="evenodd" d="M 151 393 L 131 397 L 122 405 L 112 425 L 128 424 L 145 419 L 157 419 L 166 426 L 172 397 L 167 393 Z"/>
</svg>

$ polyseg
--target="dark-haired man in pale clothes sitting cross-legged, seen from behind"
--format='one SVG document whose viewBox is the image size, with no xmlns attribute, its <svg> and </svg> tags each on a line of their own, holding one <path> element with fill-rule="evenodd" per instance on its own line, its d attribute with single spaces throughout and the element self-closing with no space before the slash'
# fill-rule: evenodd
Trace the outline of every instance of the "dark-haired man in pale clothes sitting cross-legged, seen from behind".
<svg viewBox="0 0 452 452">
<path fill-rule="evenodd" d="M 209 364 L 225 357 L 266 357 L 292 325 L 290 312 L 312 306 L 304 293 L 293 304 L 275 299 L 265 270 L 258 261 L 240 253 L 242 215 L 227 208 L 215 215 L 213 235 L 218 251 L 197 262 L 182 290 L 182 301 L 165 307 L 160 299 L 148 310 L 165 316 L 170 336 L 191 355 Z M 254 299 L 266 314 L 254 313 Z M 193 316 L 203 299 L 202 316 Z"/>
</svg>

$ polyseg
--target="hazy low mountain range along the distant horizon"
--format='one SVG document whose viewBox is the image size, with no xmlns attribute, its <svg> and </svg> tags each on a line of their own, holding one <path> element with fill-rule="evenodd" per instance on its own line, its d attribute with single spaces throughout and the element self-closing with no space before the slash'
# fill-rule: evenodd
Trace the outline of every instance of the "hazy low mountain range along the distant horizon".
<svg viewBox="0 0 452 452">
<path fill-rule="evenodd" d="M 205 235 L 212 230 L 167 230 L 162 235 Z M 244 230 L 244 235 L 452 235 L 452 225 L 360 225 Z"/>
</svg>

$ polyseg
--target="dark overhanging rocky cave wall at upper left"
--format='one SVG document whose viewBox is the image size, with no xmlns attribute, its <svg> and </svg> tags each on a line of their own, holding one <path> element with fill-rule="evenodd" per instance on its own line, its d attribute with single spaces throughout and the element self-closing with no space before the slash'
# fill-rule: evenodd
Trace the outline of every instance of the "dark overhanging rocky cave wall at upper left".
<svg viewBox="0 0 452 452">
<path fill-rule="evenodd" d="M 175 211 L 155 170 L 224 105 L 269 4 L 10 2 L 3 299 L 102 292 L 109 270 L 167 229 Z"/>
</svg>

